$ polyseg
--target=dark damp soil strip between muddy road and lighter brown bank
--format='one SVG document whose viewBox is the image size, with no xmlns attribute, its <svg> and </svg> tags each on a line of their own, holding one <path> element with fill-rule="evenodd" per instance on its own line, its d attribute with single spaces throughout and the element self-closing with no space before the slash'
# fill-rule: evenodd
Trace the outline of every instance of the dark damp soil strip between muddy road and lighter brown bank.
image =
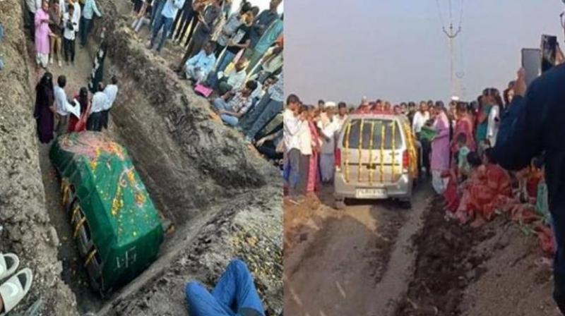
<svg viewBox="0 0 565 316">
<path fill-rule="evenodd" d="M 486 256 L 474 246 L 489 234 L 446 221 L 443 200 L 434 200 L 424 229 L 415 238 L 415 274 L 396 315 L 460 315 L 463 291 L 484 272 L 480 265 Z"/>
</svg>

